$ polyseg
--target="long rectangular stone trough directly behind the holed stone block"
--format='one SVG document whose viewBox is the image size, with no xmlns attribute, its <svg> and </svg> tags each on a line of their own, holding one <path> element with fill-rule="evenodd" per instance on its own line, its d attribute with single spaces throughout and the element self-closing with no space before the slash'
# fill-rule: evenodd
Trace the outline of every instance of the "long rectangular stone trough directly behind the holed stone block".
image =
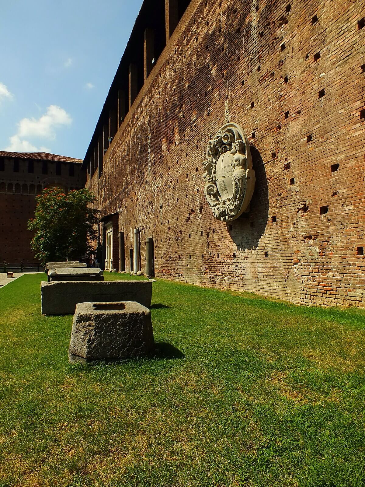
<svg viewBox="0 0 365 487">
<path fill-rule="evenodd" d="M 41 282 L 41 312 L 73 315 L 76 304 L 96 301 L 137 301 L 151 305 L 151 281 L 54 281 Z"/>
</svg>

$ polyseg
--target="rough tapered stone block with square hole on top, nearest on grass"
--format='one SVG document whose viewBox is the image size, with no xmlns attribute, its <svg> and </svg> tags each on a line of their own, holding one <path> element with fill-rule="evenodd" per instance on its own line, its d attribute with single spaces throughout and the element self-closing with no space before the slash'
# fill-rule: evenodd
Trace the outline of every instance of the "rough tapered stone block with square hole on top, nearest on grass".
<svg viewBox="0 0 365 487">
<path fill-rule="evenodd" d="M 69 361 L 146 356 L 154 349 L 151 312 L 136 301 L 78 303 Z"/>
</svg>

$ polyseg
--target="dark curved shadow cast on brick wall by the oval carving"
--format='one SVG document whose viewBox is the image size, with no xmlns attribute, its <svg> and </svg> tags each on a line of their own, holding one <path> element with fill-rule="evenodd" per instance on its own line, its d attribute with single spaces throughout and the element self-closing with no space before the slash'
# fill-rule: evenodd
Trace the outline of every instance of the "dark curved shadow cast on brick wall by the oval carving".
<svg viewBox="0 0 365 487">
<path fill-rule="evenodd" d="M 256 147 L 250 146 L 250 150 L 256 177 L 250 210 L 237 220 L 227 223 L 228 233 L 237 245 L 237 250 L 251 250 L 257 247 L 269 215 L 269 189 L 264 162 Z"/>
</svg>

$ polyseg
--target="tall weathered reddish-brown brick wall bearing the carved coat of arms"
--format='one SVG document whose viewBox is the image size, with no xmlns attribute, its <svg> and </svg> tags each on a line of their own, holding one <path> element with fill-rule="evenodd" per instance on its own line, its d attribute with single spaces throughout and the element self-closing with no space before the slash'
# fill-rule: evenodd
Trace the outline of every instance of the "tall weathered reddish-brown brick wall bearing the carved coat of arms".
<svg viewBox="0 0 365 487">
<path fill-rule="evenodd" d="M 191 1 L 88 186 L 156 275 L 295 303 L 364 305 L 364 1 Z M 358 22 L 359 21 L 359 22 Z M 214 219 L 202 161 L 249 137 L 249 214 Z M 132 235 L 131 235 L 132 236 Z"/>
</svg>

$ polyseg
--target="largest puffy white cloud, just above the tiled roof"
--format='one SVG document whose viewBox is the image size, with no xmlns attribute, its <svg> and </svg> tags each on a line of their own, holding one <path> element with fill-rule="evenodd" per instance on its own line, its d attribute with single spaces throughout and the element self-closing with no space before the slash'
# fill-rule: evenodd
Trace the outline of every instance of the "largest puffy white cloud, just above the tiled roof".
<svg viewBox="0 0 365 487">
<path fill-rule="evenodd" d="M 39 118 L 23 118 L 18 123 L 18 131 L 9 138 L 9 146 L 5 150 L 25 152 L 50 152 L 44 146 L 37 148 L 29 140 L 32 138 L 55 140 L 55 128 L 70 125 L 71 116 L 56 105 L 50 105 L 46 113 Z"/>
</svg>

